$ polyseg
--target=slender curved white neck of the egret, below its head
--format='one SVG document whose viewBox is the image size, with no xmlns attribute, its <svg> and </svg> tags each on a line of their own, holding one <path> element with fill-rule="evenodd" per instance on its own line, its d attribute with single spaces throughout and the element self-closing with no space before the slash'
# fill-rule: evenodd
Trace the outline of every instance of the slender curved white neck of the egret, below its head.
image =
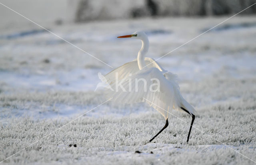
<svg viewBox="0 0 256 165">
<path fill-rule="evenodd" d="M 138 58 L 137 58 L 138 66 L 140 70 L 142 70 L 142 68 L 146 66 L 144 56 L 148 52 L 148 48 L 149 48 L 149 41 L 147 37 L 142 38 L 141 42 L 142 42 L 142 47 L 140 49 L 140 52 L 138 53 Z"/>
</svg>

